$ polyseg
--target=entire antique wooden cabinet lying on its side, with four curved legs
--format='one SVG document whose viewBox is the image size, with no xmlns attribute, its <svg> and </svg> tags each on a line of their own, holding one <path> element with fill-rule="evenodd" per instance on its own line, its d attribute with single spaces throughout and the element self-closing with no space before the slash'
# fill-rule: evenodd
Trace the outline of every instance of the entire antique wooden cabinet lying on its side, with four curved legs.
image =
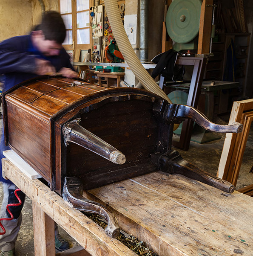
<svg viewBox="0 0 253 256">
<path fill-rule="evenodd" d="M 173 124 L 189 118 L 215 132 L 242 131 L 217 125 L 186 105 L 136 88 L 105 89 L 81 79 L 42 76 L 3 93 L 5 143 L 81 211 L 105 217 L 105 232 L 119 234 L 108 210 L 82 197 L 93 189 L 161 170 L 233 192 L 232 184 L 191 165 L 172 151 Z"/>
</svg>

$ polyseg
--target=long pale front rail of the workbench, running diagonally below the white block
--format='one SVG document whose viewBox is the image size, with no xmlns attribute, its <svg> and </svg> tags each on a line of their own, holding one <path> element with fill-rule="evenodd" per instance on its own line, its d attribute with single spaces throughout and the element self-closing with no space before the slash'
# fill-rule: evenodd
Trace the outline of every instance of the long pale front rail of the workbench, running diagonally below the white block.
<svg viewBox="0 0 253 256">
<path fill-rule="evenodd" d="M 136 256 L 117 239 L 107 236 L 100 226 L 82 212 L 69 207 L 56 192 L 40 180 L 30 180 L 8 159 L 2 160 L 3 175 L 8 177 L 32 201 L 72 236 L 92 256 Z M 52 254 L 54 255 L 54 254 Z"/>
</svg>

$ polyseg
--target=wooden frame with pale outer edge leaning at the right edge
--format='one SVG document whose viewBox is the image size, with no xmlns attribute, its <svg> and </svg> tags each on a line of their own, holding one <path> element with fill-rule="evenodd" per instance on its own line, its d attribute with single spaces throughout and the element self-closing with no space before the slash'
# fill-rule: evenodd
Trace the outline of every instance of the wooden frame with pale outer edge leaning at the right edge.
<svg viewBox="0 0 253 256">
<path fill-rule="evenodd" d="M 242 165 L 242 157 L 252 121 L 253 99 L 234 102 L 228 124 L 240 122 L 243 125 L 243 131 L 241 134 L 226 135 L 217 172 L 218 177 L 229 181 L 234 186 L 236 186 L 240 167 Z M 252 193 L 252 187 L 253 185 L 250 185 L 239 191 L 251 195 L 249 193 Z"/>
</svg>

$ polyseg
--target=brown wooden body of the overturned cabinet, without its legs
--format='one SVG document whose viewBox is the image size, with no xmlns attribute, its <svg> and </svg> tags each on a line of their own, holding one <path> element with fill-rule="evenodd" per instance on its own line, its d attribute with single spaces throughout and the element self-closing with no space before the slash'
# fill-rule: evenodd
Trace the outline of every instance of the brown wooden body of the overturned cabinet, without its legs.
<svg viewBox="0 0 253 256">
<path fill-rule="evenodd" d="M 84 188 L 154 171 L 154 152 L 170 148 L 170 125 L 157 116 L 164 100 L 133 88 L 107 89 L 79 79 L 39 77 L 3 94 L 5 141 L 52 190 L 61 193 L 65 176 L 80 177 Z M 65 145 L 62 128 L 80 125 L 121 151 L 115 164 L 75 143 Z"/>
</svg>

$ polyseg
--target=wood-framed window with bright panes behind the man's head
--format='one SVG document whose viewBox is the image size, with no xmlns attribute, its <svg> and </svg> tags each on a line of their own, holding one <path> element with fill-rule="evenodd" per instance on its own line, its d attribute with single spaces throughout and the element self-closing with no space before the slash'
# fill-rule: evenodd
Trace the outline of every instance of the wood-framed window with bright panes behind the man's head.
<svg viewBox="0 0 253 256">
<path fill-rule="evenodd" d="M 59 0 L 60 14 L 66 26 L 65 49 L 89 49 L 91 0 Z"/>
</svg>

